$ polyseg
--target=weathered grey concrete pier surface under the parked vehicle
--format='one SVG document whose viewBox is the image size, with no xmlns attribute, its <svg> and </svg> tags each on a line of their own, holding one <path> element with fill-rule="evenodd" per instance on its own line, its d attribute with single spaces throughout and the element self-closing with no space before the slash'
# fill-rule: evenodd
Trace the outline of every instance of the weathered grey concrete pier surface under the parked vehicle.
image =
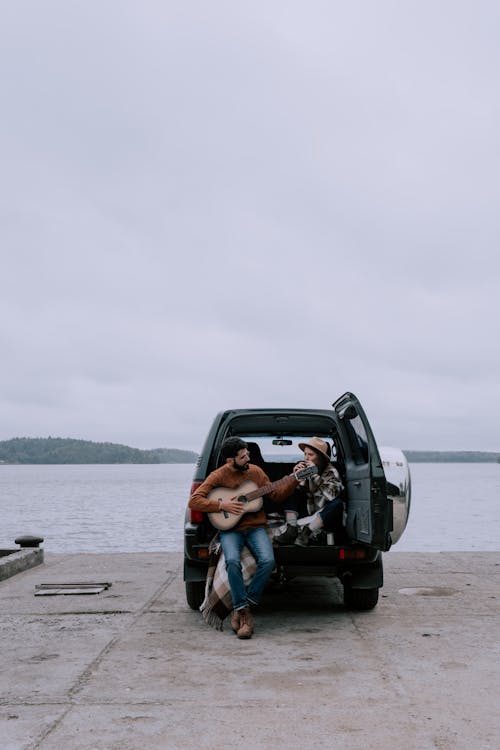
<svg viewBox="0 0 500 750">
<path fill-rule="evenodd" d="M 111 581 L 35 597 L 39 583 Z M 45 555 L 0 582 L 2 750 L 500 747 L 500 552 L 385 555 L 375 610 L 296 580 L 205 625 L 177 553 Z"/>
</svg>

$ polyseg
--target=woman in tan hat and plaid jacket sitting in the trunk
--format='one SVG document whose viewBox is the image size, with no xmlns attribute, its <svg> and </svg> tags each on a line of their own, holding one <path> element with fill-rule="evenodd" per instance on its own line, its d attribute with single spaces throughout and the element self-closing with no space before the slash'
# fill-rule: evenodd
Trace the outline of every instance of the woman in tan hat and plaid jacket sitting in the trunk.
<svg viewBox="0 0 500 750">
<path fill-rule="evenodd" d="M 339 497 L 343 485 L 340 474 L 330 461 L 330 446 L 325 440 L 312 437 L 307 443 L 299 443 L 299 448 L 304 451 L 304 460 L 294 466 L 294 473 L 309 466 L 316 466 L 318 473 L 300 480 L 296 494 L 285 501 L 286 530 L 274 537 L 274 542 L 307 547 L 308 544 L 324 543 L 324 532 L 333 532 L 338 543 L 345 536 L 344 504 Z M 307 515 L 313 517 L 299 531 L 299 507 L 304 504 Z"/>
</svg>

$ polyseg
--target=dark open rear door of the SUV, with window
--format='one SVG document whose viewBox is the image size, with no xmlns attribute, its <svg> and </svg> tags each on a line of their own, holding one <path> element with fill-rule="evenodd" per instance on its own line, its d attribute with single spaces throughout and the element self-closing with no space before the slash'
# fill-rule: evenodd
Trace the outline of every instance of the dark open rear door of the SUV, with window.
<svg viewBox="0 0 500 750">
<path fill-rule="evenodd" d="M 344 393 L 333 408 L 345 450 L 347 533 L 354 541 L 388 550 L 392 502 L 370 424 L 353 393 Z"/>
</svg>

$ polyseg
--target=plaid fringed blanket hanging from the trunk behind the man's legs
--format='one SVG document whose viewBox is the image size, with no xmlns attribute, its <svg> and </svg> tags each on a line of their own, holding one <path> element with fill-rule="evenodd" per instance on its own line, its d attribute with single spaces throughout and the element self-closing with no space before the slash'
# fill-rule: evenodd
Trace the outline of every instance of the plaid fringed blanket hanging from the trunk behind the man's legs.
<svg viewBox="0 0 500 750">
<path fill-rule="evenodd" d="M 226 571 L 226 561 L 218 541 L 218 534 L 210 543 L 210 560 L 205 587 L 205 599 L 200 607 L 204 621 L 216 630 L 223 630 L 223 622 L 233 609 L 231 589 Z M 254 556 L 247 547 L 241 552 L 243 580 L 248 584 L 257 569 Z"/>
</svg>

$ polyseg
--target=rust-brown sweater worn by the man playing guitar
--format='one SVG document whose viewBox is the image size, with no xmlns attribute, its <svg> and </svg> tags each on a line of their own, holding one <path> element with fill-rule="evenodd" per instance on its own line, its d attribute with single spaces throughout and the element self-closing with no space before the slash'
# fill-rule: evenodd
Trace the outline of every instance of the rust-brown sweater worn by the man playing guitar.
<svg viewBox="0 0 500 750">
<path fill-rule="evenodd" d="M 219 510 L 219 501 L 208 499 L 208 495 L 212 490 L 216 487 L 237 490 L 240 484 L 248 480 L 255 482 L 257 487 L 263 487 L 270 483 L 267 474 L 258 466 L 254 466 L 254 464 L 249 465 L 248 471 L 239 471 L 229 464 L 224 464 L 220 469 L 216 469 L 209 474 L 203 484 L 198 487 L 189 500 L 189 507 L 193 510 L 202 510 L 205 513 L 214 513 Z M 297 485 L 298 482 L 295 477 L 290 477 L 289 482 L 286 482 L 283 487 L 269 492 L 267 497 L 275 503 L 282 503 L 292 494 Z M 235 492 L 234 494 L 237 495 L 238 493 Z M 266 526 L 266 523 L 266 513 L 261 509 L 255 513 L 244 513 L 236 528 L 238 531 L 243 531 L 244 529 L 255 529 L 259 526 Z"/>
</svg>

